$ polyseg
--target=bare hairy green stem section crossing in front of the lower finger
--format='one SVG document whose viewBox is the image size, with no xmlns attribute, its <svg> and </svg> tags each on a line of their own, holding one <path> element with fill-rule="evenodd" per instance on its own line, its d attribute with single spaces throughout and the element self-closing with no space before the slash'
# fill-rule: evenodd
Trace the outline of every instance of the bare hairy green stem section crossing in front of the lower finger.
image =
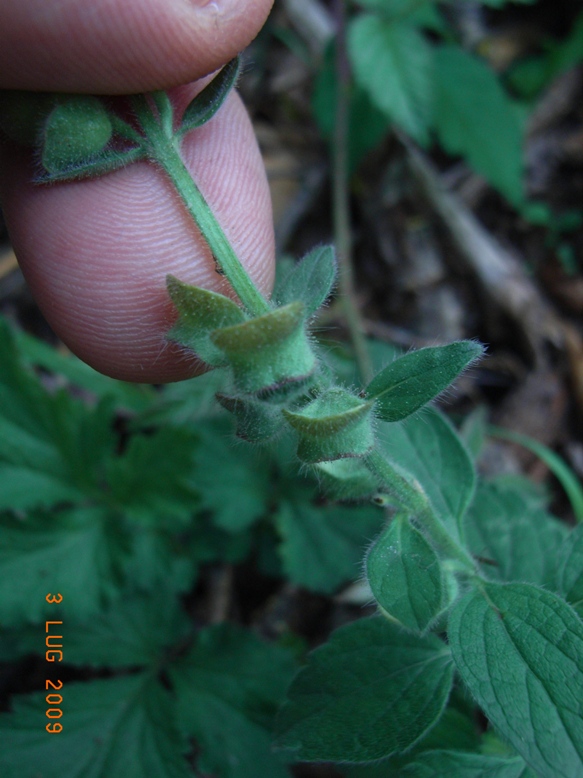
<svg viewBox="0 0 583 778">
<path fill-rule="evenodd" d="M 150 159 L 160 165 L 174 184 L 186 209 L 208 243 L 216 263 L 235 293 L 252 316 L 269 313 L 271 311 L 269 303 L 250 279 L 212 209 L 182 161 L 178 142 L 167 128 L 165 132 L 164 126 L 154 116 L 144 96 L 139 95 L 135 98 L 134 108 L 146 136 Z"/>
</svg>

